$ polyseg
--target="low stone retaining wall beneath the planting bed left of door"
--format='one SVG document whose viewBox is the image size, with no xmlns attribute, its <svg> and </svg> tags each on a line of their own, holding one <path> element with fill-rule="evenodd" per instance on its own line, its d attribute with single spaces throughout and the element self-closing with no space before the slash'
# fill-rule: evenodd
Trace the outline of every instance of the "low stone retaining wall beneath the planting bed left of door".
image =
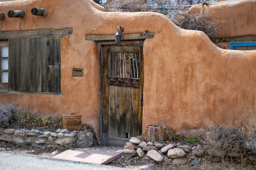
<svg viewBox="0 0 256 170">
<path fill-rule="evenodd" d="M 93 144 L 93 133 L 87 131 L 70 131 L 58 129 L 56 132 L 0 129 L 0 140 L 15 144 L 28 144 L 34 147 L 90 147 Z"/>
</svg>

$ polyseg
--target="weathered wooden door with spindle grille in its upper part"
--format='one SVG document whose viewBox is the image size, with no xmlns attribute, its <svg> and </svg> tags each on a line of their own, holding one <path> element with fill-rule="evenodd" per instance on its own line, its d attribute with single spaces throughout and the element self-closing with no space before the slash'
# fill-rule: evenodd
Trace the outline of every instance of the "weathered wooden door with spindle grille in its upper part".
<svg viewBox="0 0 256 170">
<path fill-rule="evenodd" d="M 102 46 L 102 68 L 102 142 L 123 146 L 142 130 L 142 46 Z"/>
</svg>

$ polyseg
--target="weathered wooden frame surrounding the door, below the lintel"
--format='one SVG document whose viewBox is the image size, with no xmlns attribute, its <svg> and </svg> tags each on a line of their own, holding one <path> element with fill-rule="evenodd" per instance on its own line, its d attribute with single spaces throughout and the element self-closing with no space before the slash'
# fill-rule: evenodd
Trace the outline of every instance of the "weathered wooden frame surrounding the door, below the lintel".
<svg viewBox="0 0 256 170">
<path fill-rule="evenodd" d="M 118 45 L 125 44 L 142 44 L 144 40 L 140 41 L 121 41 Z M 100 134 L 103 145 L 108 144 L 108 115 L 103 113 L 103 46 L 104 45 L 117 45 L 114 41 L 97 42 L 97 55 L 99 57 L 99 117 L 100 117 Z M 140 94 L 143 92 L 144 86 L 144 57 L 143 46 L 140 48 Z M 106 94 L 107 95 L 107 94 Z M 108 95 L 107 95 L 108 96 Z M 142 133 L 142 113 L 143 113 L 143 99 L 140 100 L 140 134 Z"/>
</svg>

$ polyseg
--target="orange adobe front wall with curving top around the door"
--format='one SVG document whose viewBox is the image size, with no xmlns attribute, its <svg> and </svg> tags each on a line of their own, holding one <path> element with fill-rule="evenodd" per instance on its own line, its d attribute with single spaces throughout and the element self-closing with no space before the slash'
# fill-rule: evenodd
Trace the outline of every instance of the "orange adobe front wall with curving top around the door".
<svg viewBox="0 0 256 170">
<path fill-rule="evenodd" d="M 47 16 L 33 16 L 33 7 L 47 8 Z M 22 9 L 26 16 L 6 17 L 0 21 L 1 31 L 73 28 L 73 34 L 62 37 L 63 95 L 0 94 L 2 102 L 42 113 L 81 113 L 99 136 L 99 57 L 96 42 L 86 41 L 85 35 L 115 34 L 122 26 L 124 34 L 155 33 L 143 46 L 143 127 L 162 123 L 191 133 L 213 124 L 239 125 L 244 109 L 255 104 L 256 51 L 223 50 L 203 32 L 183 30 L 162 14 L 104 12 L 90 0 L 0 3 L 1 12 L 11 9 Z M 72 68 L 84 68 L 84 77 L 72 77 Z"/>
</svg>

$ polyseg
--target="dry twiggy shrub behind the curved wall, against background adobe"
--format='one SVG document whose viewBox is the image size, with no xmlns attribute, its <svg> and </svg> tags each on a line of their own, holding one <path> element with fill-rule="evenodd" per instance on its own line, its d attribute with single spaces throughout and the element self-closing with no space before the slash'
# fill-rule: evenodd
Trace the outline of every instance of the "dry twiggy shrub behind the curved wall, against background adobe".
<svg viewBox="0 0 256 170">
<path fill-rule="evenodd" d="M 183 29 L 203 31 L 208 37 L 215 37 L 218 33 L 218 28 L 223 24 L 221 20 L 204 11 L 196 15 L 186 13 L 184 17 L 178 18 L 174 23 Z"/>
</svg>

